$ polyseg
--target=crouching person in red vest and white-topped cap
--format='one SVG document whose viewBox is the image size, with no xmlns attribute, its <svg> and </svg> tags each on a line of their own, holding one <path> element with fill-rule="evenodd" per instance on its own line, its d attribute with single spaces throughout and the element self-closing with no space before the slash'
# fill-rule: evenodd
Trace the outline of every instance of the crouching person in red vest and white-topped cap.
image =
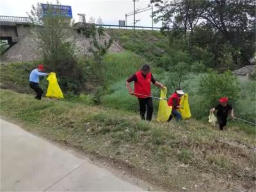
<svg viewBox="0 0 256 192">
<path fill-rule="evenodd" d="M 175 116 L 178 122 L 181 120 L 181 114 L 177 111 L 177 109 L 180 108 L 180 97 L 182 97 L 184 94 L 185 93 L 182 90 L 176 90 L 176 92 L 173 93 L 168 99 L 168 106 L 172 106 L 172 114 L 170 115 L 168 122 L 172 120 L 173 116 Z"/>
</svg>

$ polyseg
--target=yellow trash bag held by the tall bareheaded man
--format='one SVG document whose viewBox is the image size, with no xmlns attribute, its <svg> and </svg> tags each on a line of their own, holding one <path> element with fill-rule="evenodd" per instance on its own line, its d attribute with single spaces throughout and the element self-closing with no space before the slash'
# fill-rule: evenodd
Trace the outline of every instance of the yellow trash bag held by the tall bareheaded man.
<svg viewBox="0 0 256 192">
<path fill-rule="evenodd" d="M 172 106 L 168 106 L 166 100 L 167 88 L 164 87 L 161 89 L 160 97 L 164 98 L 165 100 L 159 101 L 158 113 L 157 113 L 157 121 L 158 122 L 167 122 L 169 116 L 172 113 Z"/>
</svg>

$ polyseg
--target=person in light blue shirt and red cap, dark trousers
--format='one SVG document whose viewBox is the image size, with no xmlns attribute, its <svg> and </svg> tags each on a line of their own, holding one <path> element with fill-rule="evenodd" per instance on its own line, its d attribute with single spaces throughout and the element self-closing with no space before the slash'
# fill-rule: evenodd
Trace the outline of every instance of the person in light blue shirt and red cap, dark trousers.
<svg viewBox="0 0 256 192">
<path fill-rule="evenodd" d="M 31 71 L 29 75 L 29 86 L 35 90 L 36 97 L 35 99 L 40 100 L 44 91 L 39 86 L 39 76 L 48 76 L 49 74 L 44 73 L 44 65 L 38 65 L 37 68 Z"/>
</svg>

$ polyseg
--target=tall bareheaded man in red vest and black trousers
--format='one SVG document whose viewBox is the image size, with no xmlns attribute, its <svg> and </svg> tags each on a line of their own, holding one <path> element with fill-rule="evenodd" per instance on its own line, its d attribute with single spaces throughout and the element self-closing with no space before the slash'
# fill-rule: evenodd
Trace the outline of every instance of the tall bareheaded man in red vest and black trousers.
<svg viewBox="0 0 256 192">
<path fill-rule="evenodd" d="M 130 83 L 134 81 L 134 91 L 130 86 Z M 151 83 L 159 88 L 164 88 L 163 84 L 157 82 L 150 72 L 150 66 L 144 64 L 141 70 L 129 77 L 126 81 L 127 89 L 131 95 L 138 97 L 140 103 L 140 116 L 142 120 L 145 120 L 145 113 L 147 111 L 146 120 L 150 121 L 153 114 L 153 102 L 151 96 Z"/>
</svg>

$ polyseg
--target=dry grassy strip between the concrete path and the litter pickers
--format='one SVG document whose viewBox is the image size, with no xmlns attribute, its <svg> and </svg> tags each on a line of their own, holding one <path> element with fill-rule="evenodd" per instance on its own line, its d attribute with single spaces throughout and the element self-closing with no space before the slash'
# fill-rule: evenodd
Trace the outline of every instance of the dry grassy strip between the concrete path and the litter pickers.
<svg viewBox="0 0 256 192">
<path fill-rule="evenodd" d="M 141 122 L 129 112 L 1 90 L 1 115 L 52 141 L 110 159 L 166 189 L 239 191 L 253 188 L 253 134 L 196 120 Z M 111 156 L 111 157 L 110 157 Z"/>
</svg>

